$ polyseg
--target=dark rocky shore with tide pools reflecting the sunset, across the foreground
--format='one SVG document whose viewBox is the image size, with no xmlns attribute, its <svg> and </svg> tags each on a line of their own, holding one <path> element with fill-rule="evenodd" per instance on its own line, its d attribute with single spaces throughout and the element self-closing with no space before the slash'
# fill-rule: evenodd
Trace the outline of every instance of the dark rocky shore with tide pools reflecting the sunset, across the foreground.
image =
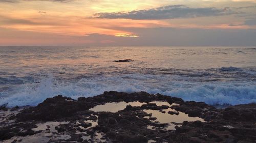
<svg viewBox="0 0 256 143">
<path fill-rule="evenodd" d="M 217 109 L 160 94 L 58 95 L 0 107 L 0 142 L 256 142 L 256 104 Z"/>
</svg>

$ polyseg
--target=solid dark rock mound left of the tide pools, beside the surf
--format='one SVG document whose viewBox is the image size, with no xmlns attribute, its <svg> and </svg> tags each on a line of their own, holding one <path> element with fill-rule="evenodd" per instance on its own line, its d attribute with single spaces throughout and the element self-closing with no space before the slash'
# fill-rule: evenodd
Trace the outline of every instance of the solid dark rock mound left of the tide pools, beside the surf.
<svg viewBox="0 0 256 143">
<path fill-rule="evenodd" d="M 47 98 L 36 107 L 28 108 L 18 113 L 17 121 L 53 121 L 56 119 L 71 117 L 77 111 L 88 110 L 94 105 L 90 102 L 74 101 L 68 97 L 58 95 L 53 98 Z"/>
</svg>

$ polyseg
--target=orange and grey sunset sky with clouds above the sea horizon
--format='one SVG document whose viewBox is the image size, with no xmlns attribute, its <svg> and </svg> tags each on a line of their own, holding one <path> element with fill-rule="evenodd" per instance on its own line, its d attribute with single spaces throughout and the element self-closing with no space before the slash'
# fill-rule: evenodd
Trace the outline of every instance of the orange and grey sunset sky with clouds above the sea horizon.
<svg viewBox="0 0 256 143">
<path fill-rule="evenodd" d="M 256 46 L 256 0 L 0 0 L 0 46 Z"/>
</svg>

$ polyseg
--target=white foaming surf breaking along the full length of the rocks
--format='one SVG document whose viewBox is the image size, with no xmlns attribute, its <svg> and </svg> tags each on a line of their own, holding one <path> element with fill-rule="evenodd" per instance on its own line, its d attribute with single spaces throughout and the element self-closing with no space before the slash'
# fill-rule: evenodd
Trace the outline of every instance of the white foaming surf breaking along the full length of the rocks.
<svg viewBox="0 0 256 143">
<path fill-rule="evenodd" d="M 76 82 L 56 80 L 48 76 L 40 82 L 19 85 L 15 93 L 2 93 L 0 105 L 35 106 L 48 97 L 64 95 L 77 99 L 102 94 L 104 91 L 160 93 L 185 101 L 214 104 L 246 104 L 256 102 L 255 82 L 191 82 L 175 81 L 175 77 L 151 74 L 122 74 L 82 78 Z M 1 95 L 1 94 L 0 94 Z"/>
</svg>

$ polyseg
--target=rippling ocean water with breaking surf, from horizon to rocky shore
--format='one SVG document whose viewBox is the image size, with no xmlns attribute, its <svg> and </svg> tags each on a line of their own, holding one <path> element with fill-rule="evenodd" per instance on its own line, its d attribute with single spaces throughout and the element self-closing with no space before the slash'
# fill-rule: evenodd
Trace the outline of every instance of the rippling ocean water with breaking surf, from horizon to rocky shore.
<svg viewBox="0 0 256 143">
<path fill-rule="evenodd" d="M 0 47 L 0 105 L 104 91 L 256 102 L 256 47 Z"/>
</svg>

